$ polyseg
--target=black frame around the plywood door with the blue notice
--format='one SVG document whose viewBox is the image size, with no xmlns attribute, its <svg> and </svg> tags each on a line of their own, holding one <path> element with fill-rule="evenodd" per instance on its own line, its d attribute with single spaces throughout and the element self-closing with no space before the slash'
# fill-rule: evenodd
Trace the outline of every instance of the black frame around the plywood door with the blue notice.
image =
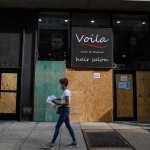
<svg viewBox="0 0 150 150">
<path fill-rule="evenodd" d="M 113 82 L 114 82 L 114 88 L 113 88 L 113 120 L 114 121 L 137 121 L 137 98 L 136 98 L 136 72 L 135 71 L 129 71 L 129 70 L 114 70 L 113 73 Z M 132 74 L 133 75 L 133 117 L 117 117 L 117 95 L 116 95 L 116 74 Z"/>
</svg>

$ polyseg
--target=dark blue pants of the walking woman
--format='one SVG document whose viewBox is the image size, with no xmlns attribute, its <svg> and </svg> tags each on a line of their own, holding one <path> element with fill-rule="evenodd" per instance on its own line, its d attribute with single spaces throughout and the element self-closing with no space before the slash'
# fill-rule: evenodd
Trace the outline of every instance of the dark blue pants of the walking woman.
<svg viewBox="0 0 150 150">
<path fill-rule="evenodd" d="M 56 138 L 59 134 L 60 127 L 63 124 L 63 122 L 65 123 L 65 125 L 66 125 L 66 127 L 67 127 L 67 129 L 68 129 L 68 131 L 72 137 L 72 141 L 76 142 L 74 131 L 70 125 L 69 113 L 70 113 L 70 109 L 68 107 L 62 108 L 62 110 L 60 112 L 59 119 L 58 119 L 56 127 L 55 127 L 55 132 L 54 132 L 53 139 L 52 139 L 51 143 L 53 143 L 53 144 L 55 143 Z"/>
</svg>

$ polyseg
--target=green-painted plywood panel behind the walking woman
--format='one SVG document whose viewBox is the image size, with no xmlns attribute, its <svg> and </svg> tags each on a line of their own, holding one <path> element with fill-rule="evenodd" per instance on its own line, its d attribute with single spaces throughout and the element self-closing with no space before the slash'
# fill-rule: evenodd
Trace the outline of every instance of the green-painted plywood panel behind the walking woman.
<svg viewBox="0 0 150 150">
<path fill-rule="evenodd" d="M 48 95 L 60 97 L 59 79 L 64 77 L 64 61 L 38 61 L 35 69 L 34 120 L 56 121 L 56 110 L 48 103 Z"/>
</svg>

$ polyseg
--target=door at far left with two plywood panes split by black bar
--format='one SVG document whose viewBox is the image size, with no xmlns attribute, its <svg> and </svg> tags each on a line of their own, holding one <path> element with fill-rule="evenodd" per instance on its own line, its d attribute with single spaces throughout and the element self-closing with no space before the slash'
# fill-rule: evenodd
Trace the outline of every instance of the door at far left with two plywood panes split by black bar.
<svg viewBox="0 0 150 150">
<path fill-rule="evenodd" d="M 17 117 L 17 73 L 0 72 L 0 119 Z"/>
</svg>

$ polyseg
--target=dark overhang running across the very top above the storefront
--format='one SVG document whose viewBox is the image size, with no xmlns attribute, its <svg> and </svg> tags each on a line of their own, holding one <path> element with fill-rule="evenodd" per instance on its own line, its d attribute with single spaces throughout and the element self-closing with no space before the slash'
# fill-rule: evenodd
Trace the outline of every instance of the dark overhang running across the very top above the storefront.
<svg viewBox="0 0 150 150">
<path fill-rule="evenodd" d="M 150 11 L 150 0 L 0 0 L 0 7 Z"/>
</svg>

